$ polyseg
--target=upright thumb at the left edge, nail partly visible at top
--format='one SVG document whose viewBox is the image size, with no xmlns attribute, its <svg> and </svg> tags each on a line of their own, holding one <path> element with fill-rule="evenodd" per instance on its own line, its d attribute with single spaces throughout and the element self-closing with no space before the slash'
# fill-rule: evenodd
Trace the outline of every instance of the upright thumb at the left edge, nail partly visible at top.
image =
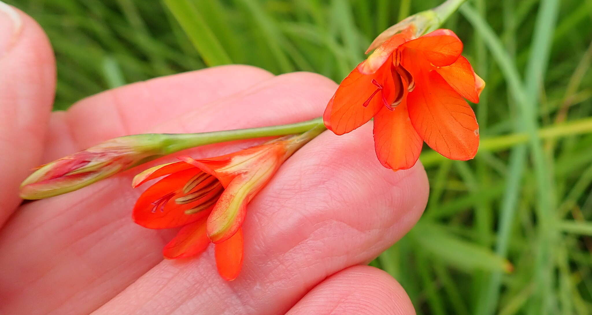
<svg viewBox="0 0 592 315">
<path fill-rule="evenodd" d="M 40 163 L 56 85 L 53 51 L 37 23 L 0 2 L 0 225 Z"/>
</svg>

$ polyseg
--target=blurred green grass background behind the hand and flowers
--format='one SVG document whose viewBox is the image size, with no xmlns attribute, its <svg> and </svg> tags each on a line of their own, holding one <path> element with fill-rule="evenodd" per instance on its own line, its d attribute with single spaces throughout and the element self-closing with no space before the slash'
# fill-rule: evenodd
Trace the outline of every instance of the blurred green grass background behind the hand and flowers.
<svg viewBox="0 0 592 315">
<path fill-rule="evenodd" d="M 382 30 L 440 1 L 9 0 L 49 34 L 56 109 L 226 63 L 339 82 Z M 371 264 L 419 314 L 592 313 L 592 0 L 472 0 L 446 22 L 487 87 L 477 158 L 424 148 L 426 213 Z"/>
</svg>

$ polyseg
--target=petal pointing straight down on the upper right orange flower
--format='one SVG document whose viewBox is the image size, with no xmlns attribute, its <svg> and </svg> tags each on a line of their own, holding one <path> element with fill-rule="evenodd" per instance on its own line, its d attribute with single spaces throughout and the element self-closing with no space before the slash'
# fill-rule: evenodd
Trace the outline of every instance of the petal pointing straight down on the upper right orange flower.
<svg viewBox="0 0 592 315">
<path fill-rule="evenodd" d="M 395 171 L 411 168 L 422 145 L 422 138 L 411 125 L 405 100 L 394 111 L 383 108 L 374 117 L 374 147 L 384 167 Z"/>
</svg>

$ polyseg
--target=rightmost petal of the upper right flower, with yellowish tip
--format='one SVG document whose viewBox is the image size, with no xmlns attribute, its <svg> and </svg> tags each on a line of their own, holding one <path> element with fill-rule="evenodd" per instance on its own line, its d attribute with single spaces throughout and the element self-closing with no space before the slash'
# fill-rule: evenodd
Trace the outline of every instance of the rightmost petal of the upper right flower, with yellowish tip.
<svg viewBox="0 0 592 315">
<path fill-rule="evenodd" d="M 463 98 L 468 99 L 473 103 L 479 102 L 480 90 L 478 90 L 477 84 L 483 82 L 477 82 L 477 76 L 471 63 L 466 60 L 465 57 L 458 57 L 458 60 L 450 66 L 436 68 L 436 72 L 448 82 L 448 84 L 459 93 Z M 481 78 L 479 78 L 481 79 Z M 484 86 L 483 82 L 483 86 Z M 481 87 L 481 90 L 483 87 Z"/>
</svg>

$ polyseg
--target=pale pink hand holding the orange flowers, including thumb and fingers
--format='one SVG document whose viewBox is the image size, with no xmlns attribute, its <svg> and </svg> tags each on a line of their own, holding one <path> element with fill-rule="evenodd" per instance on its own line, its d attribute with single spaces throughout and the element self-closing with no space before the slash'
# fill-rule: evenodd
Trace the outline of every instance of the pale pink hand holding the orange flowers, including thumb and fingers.
<svg viewBox="0 0 592 315">
<path fill-rule="evenodd" d="M 343 136 L 326 131 L 282 165 L 249 204 L 243 270 L 231 282 L 217 274 L 213 248 L 194 259 L 164 260 L 162 247 L 176 231 L 131 220 L 145 189 L 131 189 L 131 178 L 174 157 L 21 204 L 18 185 L 38 164 L 127 134 L 312 119 L 337 86 L 313 73 L 223 66 L 135 83 L 50 112 L 56 79 L 49 42 L 22 12 L 17 33 L 2 14 L 0 36 L 15 35 L 0 44 L 0 313 L 414 314 L 397 281 L 365 264 L 417 222 L 427 177 L 420 163 L 396 173 L 383 168 L 372 122 Z M 183 154 L 208 157 L 260 141 Z"/>
</svg>

